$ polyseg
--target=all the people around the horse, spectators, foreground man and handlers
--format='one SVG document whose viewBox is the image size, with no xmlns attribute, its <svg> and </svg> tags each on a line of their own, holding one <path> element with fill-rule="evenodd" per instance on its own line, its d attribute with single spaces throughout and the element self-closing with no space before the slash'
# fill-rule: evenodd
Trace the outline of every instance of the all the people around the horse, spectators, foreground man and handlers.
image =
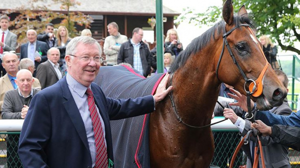
<svg viewBox="0 0 300 168">
<path fill-rule="evenodd" d="M 37 34 L 34 29 L 29 29 L 26 32 L 27 42 L 20 46 L 18 58 L 15 53 L 17 35 L 10 32 L 8 27 L 9 18 L 2 15 L 1 118 L 25 119 L 20 136 L 7 137 L 8 167 L 22 167 L 19 158 L 13 156 L 17 149 L 24 167 L 64 167 L 65 162 L 73 167 L 109 165 L 113 163 L 109 119 L 142 115 L 139 109 L 148 109 L 145 111 L 150 113 L 154 110 L 155 103 L 172 89 L 171 86 L 166 88 L 167 74 L 154 96 L 134 100 L 106 98 L 101 89 L 92 83 L 102 63 L 102 50 L 99 43 L 91 37 L 89 29 L 82 30 L 81 36 L 72 39 L 68 37 L 65 26 L 59 26 L 56 33 L 52 23 L 45 25 L 43 33 Z M 130 38 L 119 33 L 115 22 L 109 23 L 107 30 L 109 36 L 105 38 L 103 45 L 106 66 L 128 63 L 144 77 L 157 73 L 156 47 L 150 50 L 143 42 L 142 28 L 134 28 Z M 259 39 L 266 59 L 269 63 L 274 62 L 276 46 L 265 35 Z M 167 31 L 163 48 L 164 72 L 167 72 L 183 50 L 175 29 Z M 287 89 L 288 80 L 284 72 L 275 72 Z M 244 106 L 243 96 L 225 84 L 222 84 L 222 88 L 221 96 L 230 95 L 236 101 L 223 102 L 226 107 L 224 110 L 216 106 L 214 115 L 230 119 L 241 135 L 253 127 L 265 136 L 262 142 L 263 150 L 266 151 L 266 168 L 271 168 L 271 165 L 290 168 L 288 147 L 300 150 L 300 112 L 292 113 L 285 102 L 267 112 L 256 111 L 258 120 L 250 123 L 244 118 L 247 108 Z M 93 94 L 98 97 L 93 97 Z M 252 103 L 252 106 L 253 109 L 255 104 Z M 295 134 L 298 136 L 294 137 Z M 18 141 L 19 148 L 16 143 Z M 244 146 L 247 168 L 253 164 L 254 146 L 254 142 L 247 148 Z M 276 156 L 273 155 L 275 153 Z"/>
</svg>

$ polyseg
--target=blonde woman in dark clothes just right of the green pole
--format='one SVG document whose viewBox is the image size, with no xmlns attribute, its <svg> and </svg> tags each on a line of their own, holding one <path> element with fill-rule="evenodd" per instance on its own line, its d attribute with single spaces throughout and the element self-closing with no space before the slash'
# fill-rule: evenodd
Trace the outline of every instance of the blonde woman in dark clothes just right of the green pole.
<svg viewBox="0 0 300 168">
<path fill-rule="evenodd" d="M 182 51 L 182 44 L 179 42 L 177 31 L 173 28 L 168 29 L 164 40 L 164 47 L 171 50 L 171 54 L 175 57 Z"/>
</svg>

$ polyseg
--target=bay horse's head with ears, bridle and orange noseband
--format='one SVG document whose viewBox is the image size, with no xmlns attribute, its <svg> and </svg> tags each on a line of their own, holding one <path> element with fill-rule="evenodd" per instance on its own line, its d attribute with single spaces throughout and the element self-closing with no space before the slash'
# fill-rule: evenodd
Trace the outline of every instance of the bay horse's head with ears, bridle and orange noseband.
<svg viewBox="0 0 300 168">
<path fill-rule="evenodd" d="M 227 0 L 222 14 L 226 25 L 222 35 L 223 48 L 216 65 L 217 77 L 243 94 L 249 91 L 251 99 L 257 102 L 259 110 L 268 110 L 281 105 L 287 91 L 277 80 L 271 65 L 267 62 L 262 45 L 255 37 L 255 30 L 251 28 L 251 20 L 244 5 L 239 8 L 237 16 L 234 17 L 231 0 Z M 224 45 L 227 50 L 224 49 Z M 233 65 L 228 62 L 232 60 L 235 67 L 232 69 L 226 67 Z M 242 83 L 244 87 L 241 87 Z"/>
</svg>

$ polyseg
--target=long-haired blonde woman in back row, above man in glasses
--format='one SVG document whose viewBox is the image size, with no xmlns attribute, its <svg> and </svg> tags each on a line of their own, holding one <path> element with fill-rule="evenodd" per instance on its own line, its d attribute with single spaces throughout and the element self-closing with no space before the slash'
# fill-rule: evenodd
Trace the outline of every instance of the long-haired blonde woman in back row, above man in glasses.
<svg viewBox="0 0 300 168">
<path fill-rule="evenodd" d="M 64 60 L 65 47 L 70 40 L 71 39 L 68 37 L 67 28 L 63 25 L 59 26 L 56 34 L 56 43 L 57 43 L 57 48 L 59 49 L 60 52 L 60 59 L 58 64 L 60 66 L 60 70 L 63 75 L 66 74 L 66 67 L 65 67 L 65 60 Z"/>
</svg>

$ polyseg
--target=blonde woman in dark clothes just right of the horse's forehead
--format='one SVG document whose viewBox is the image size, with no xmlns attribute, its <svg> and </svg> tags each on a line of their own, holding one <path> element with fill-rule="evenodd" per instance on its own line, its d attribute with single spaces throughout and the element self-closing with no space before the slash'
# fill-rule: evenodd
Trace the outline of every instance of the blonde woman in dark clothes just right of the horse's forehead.
<svg viewBox="0 0 300 168">
<path fill-rule="evenodd" d="M 262 49 L 266 60 L 272 65 L 272 63 L 276 61 L 277 47 L 272 43 L 271 39 L 266 35 L 260 36 L 259 41 L 263 46 Z M 275 69 L 275 67 L 273 67 L 273 69 Z"/>
</svg>

